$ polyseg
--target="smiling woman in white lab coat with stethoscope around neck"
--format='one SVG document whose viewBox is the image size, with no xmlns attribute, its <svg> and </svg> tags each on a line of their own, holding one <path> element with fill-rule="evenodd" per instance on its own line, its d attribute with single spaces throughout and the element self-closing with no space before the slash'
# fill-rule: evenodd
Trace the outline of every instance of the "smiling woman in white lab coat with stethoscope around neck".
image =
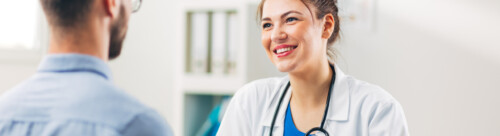
<svg viewBox="0 0 500 136">
<path fill-rule="evenodd" d="M 333 61 L 336 0 L 262 0 L 262 45 L 283 78 L 253 81 L 231 100 L 218 136 L 407 136 L 401 105 Z"/>
</svg>

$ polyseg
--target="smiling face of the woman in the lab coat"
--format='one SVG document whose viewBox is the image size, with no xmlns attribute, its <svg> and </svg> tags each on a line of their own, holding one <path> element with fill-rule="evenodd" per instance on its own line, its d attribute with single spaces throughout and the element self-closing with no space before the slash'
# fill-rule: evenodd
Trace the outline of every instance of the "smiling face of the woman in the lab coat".
<svg viewBox="0 0 500 136">
<path fill-rule="evenodd" d="M 326 58 L 322 21 L 300 0 L 266 0 L 262 7 L 262 45 L 281 72 L 306 70 Z"/>
</svg>

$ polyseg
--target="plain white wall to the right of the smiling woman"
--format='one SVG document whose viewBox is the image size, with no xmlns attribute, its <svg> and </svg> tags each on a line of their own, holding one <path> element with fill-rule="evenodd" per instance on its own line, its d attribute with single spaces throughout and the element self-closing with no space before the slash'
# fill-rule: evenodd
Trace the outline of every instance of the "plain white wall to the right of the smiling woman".
<svg viewBox="0 0 500 136">
<path fill-rule="evenodd" d="M 344 70 L 396 97 L 412 135 L 500 135 L 500 2 L 379 2 L 375 32 L 344 30 Z"/>
</svg>

